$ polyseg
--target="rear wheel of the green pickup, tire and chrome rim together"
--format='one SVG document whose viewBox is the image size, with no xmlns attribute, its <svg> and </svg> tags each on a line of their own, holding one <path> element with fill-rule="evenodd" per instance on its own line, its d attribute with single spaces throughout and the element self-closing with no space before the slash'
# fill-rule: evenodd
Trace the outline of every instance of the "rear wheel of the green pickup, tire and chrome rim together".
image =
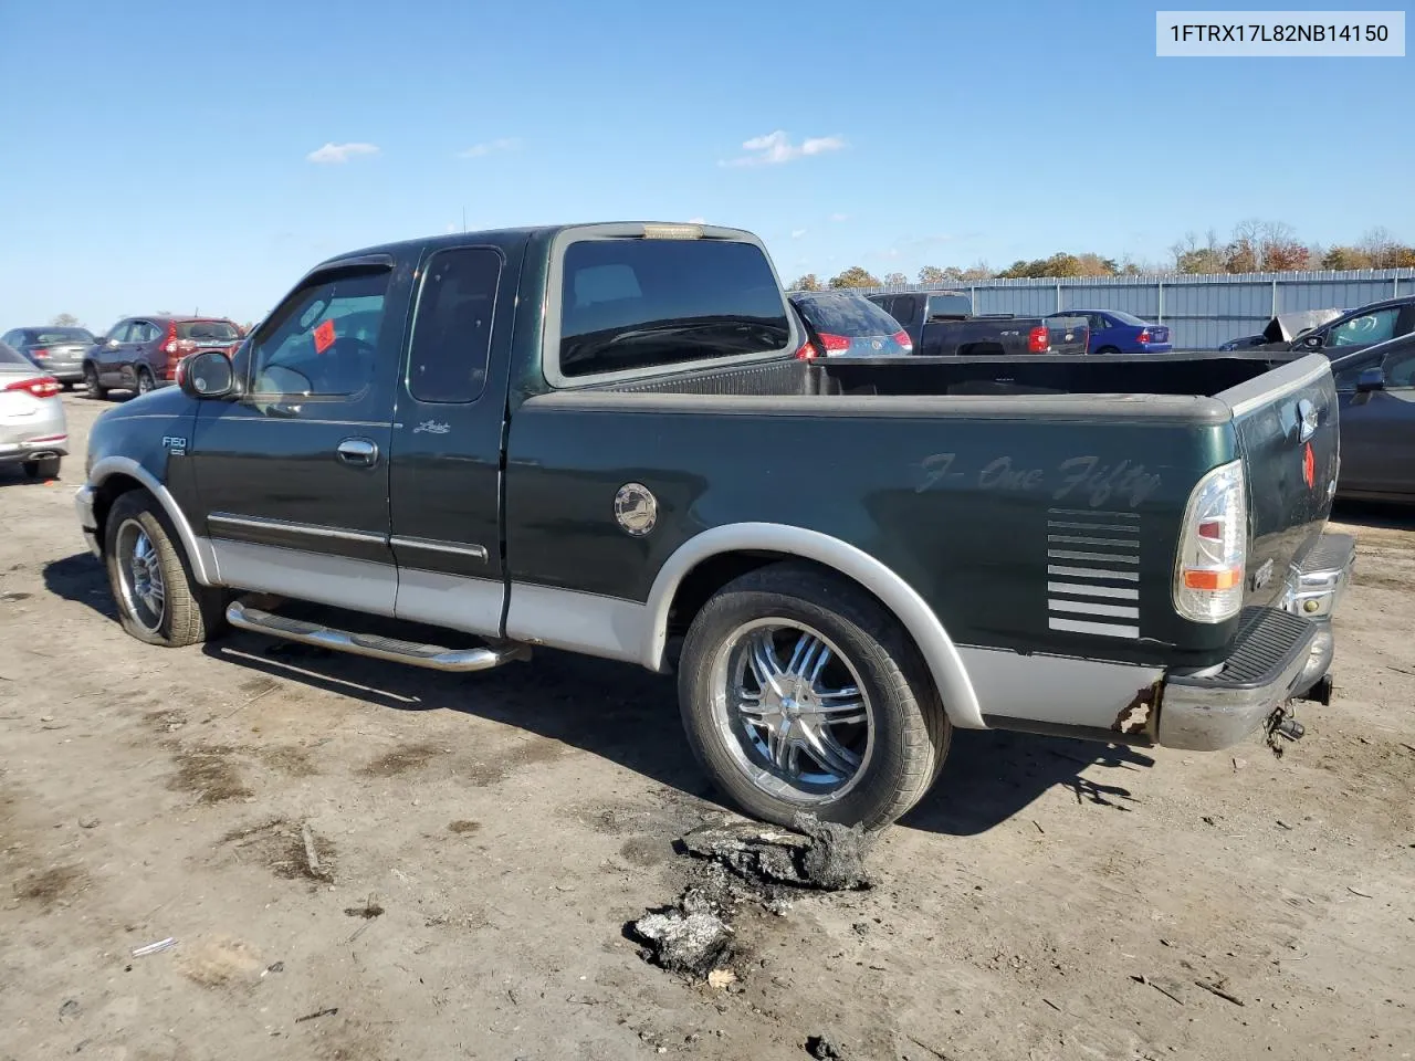
<svg viewBox="0 0 1415 1061">
<path fill-rule="evenodd" d="M 693 754 L 756 818 L 877 829 L 928 791 L 951 727 L 899 621 L 852 583 L 781 563 L 693 620 L 679 669 Z"/>
</svg>

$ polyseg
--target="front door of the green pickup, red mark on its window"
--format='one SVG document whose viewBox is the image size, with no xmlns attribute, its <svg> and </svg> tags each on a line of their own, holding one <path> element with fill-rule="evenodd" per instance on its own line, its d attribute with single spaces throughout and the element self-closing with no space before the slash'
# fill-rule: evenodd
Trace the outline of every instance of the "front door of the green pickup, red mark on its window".
<svg viewBox="0 0 1415 1061">
<path fill-rule="evenodd" d="M 410 274 L 388 255 L 310 274 L 242 347 L 243 395 L 201 403 L 173 460 L 191 461 L 225 584 L 393 613 L 388 460 Z"/>
</svg>

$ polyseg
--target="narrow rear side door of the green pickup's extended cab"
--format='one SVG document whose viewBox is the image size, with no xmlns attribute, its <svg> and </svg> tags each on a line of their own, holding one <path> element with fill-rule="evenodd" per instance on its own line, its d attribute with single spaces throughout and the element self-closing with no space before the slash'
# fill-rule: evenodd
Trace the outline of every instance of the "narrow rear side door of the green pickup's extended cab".
<svg viewBox="0 0 1415 1061">
<path fill-rule="evenodd" d="M 443 248 L 419 269 L 389 498 L 399 618 L 497 637 L 501 451 L 519 250 Z"/>
</svg>

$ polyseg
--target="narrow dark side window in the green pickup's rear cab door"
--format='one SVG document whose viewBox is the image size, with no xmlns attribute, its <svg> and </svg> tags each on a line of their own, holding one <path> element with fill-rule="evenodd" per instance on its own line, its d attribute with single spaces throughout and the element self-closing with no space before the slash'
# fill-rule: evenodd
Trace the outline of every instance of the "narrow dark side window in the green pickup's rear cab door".
<svg viewBox="0 0 1415 1061">
<path fill-rule="evenodd" d="M 481 398 L 499 279 L 501 253 L 492 248 L 439 250 L 429 259 L 408 358 L 408 392 L 419 402 Z"/>
</svg>

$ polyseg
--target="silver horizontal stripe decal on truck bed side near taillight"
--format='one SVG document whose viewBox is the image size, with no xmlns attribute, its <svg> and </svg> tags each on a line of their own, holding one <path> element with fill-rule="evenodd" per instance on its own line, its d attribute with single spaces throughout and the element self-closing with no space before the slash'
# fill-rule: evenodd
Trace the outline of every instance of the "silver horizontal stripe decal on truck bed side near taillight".
<svg viewBox="0 0 1415 1061">
<path fill-rule="evenodd" d="M 1047 509 L 1047 625 L 1070 634 L 1140 635 L 1140 518 Z"/>
</svg>

